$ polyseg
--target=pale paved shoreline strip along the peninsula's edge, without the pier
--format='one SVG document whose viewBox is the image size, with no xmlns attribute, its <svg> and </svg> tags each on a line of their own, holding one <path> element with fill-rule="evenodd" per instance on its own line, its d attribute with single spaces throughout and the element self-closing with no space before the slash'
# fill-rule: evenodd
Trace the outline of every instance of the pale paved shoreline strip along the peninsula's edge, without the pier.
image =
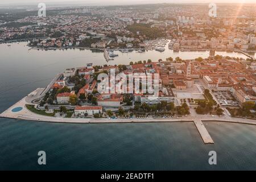
<svg viewBox="0 0 256 182">
<path fill-rule="evenodd" d="M 36 113 L 32 113 L 32 111 L 26 108 L 26 104 L 30 104 L 26 101 L 26 97 L 22 98 L 22 100 L 16 102 L 9 109 L 3 111 L 0 114 L 0 118 L 10 118 L 10 119 L 18 119 L 18 120 L 28 120 L 28 121 L 36 121 L 36 122 L 52 122 L 52 123 L 158 123 L 158 122 L 193 122 L 197 119 L 200 119 L 202 122 L 229 122 L 229 123 L 240 123 L 246 125 L 254 125 L 256 126 L 256 120 L 253 119 L 241 119 L 241 118 L 196 118 L 196 117 L 180 117 L 180 118 L 145 118 L 145 119 L 106 119 L 106 118 L 62 118 L 62 117 L 48 117 L 46 115 L 40 115 Z M 14 112 L 13 109 L 17 107 L 22 107 L 22 110 L 18 112 Z"/>
</svg>

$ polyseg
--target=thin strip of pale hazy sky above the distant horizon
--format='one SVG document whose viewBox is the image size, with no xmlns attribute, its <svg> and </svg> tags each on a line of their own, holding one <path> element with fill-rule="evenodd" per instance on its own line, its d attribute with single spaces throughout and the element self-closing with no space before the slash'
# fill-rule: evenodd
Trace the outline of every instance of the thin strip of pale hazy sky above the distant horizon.
<svg viewBox="0 0 256 182">
<path fill-rule="evenodd" d="M 132 5 L 150 3 L 255 3 L 255 0 L 0 0 L 0 5 L 22 5 L 35 3 L 83 3 L 86 5 Z"/>
</svg>

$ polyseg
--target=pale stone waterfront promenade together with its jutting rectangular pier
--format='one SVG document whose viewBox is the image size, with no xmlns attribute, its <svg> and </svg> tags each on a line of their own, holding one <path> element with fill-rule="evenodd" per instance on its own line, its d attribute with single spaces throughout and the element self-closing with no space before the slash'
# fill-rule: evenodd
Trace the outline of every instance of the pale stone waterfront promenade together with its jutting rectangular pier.
<svg viewBox="0 0 256 182">
<path fill-rule="evenodd" d="M 57 78 L 57 76 L 56 76 Z M 55 78 L 55 79 L 56 79 Z M 22 100 L 11 106 L 9 109 L 0 114 L 2 118 L 11 118 L 18 120 L 28 120 L 37 122 L 54 122 L 54 123 L 163 123 L 163 122 L 194 122 L 204 144 L 214 144 L 213 139 L 210 137 L 207 129 L 205 128 L 203 122 L 230 122 L 230 123 L 240 123 L 247 125 L 255 125 L 256 120 L 253 119 L 241 119 L 241 118 L 231 118 L 229 116 L 213 118 L 210 115 L 195 115 L 191 114 L 187 117 L 177 117 L 177 118 L 131 118 L 131 119 L 108 119 L 108 118 L 63 118 L 63 117 L 49 117 L 46 115 L 39 115 L 28 110 L 26 105 L 32 104 L 35 100 L 34 98 L 42 97 L 42 91 L 46 89 L 39 88 L 34 92 L 28 94 Z M 37 104 L 35 104 L 37 106 Z M 192 112 L 193 113 L 193 112 Z"/>
</svg>

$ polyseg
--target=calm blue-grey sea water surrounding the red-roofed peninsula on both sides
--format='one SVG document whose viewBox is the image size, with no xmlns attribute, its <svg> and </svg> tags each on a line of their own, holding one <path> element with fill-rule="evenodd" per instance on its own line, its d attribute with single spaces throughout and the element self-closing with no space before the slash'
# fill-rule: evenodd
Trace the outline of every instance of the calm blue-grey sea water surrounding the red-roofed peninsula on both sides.
<svg viewBox="0 0 256 182">
<path fill-rule="evenodd" d="M 102 52 L 78 49 L 30 50 L 26 43 L 0 44 L 0 113 L 65 68 L 106 64 Z M 109 64 L 192 59 L 209 52 L 121 53 Z M 221 55 L 245 57 L 239 53 Z M 256 169 L 256 126 L 233 123 L 205 125 L 215 144 L 204 145 L 193 123 L 59 124 L 0 118 L 0 170 L 171 170 Z M 39 166 L 38 151 L 47 165 Z M 208 164 L 209 151 L 217 165 Z"/>
</svg>

